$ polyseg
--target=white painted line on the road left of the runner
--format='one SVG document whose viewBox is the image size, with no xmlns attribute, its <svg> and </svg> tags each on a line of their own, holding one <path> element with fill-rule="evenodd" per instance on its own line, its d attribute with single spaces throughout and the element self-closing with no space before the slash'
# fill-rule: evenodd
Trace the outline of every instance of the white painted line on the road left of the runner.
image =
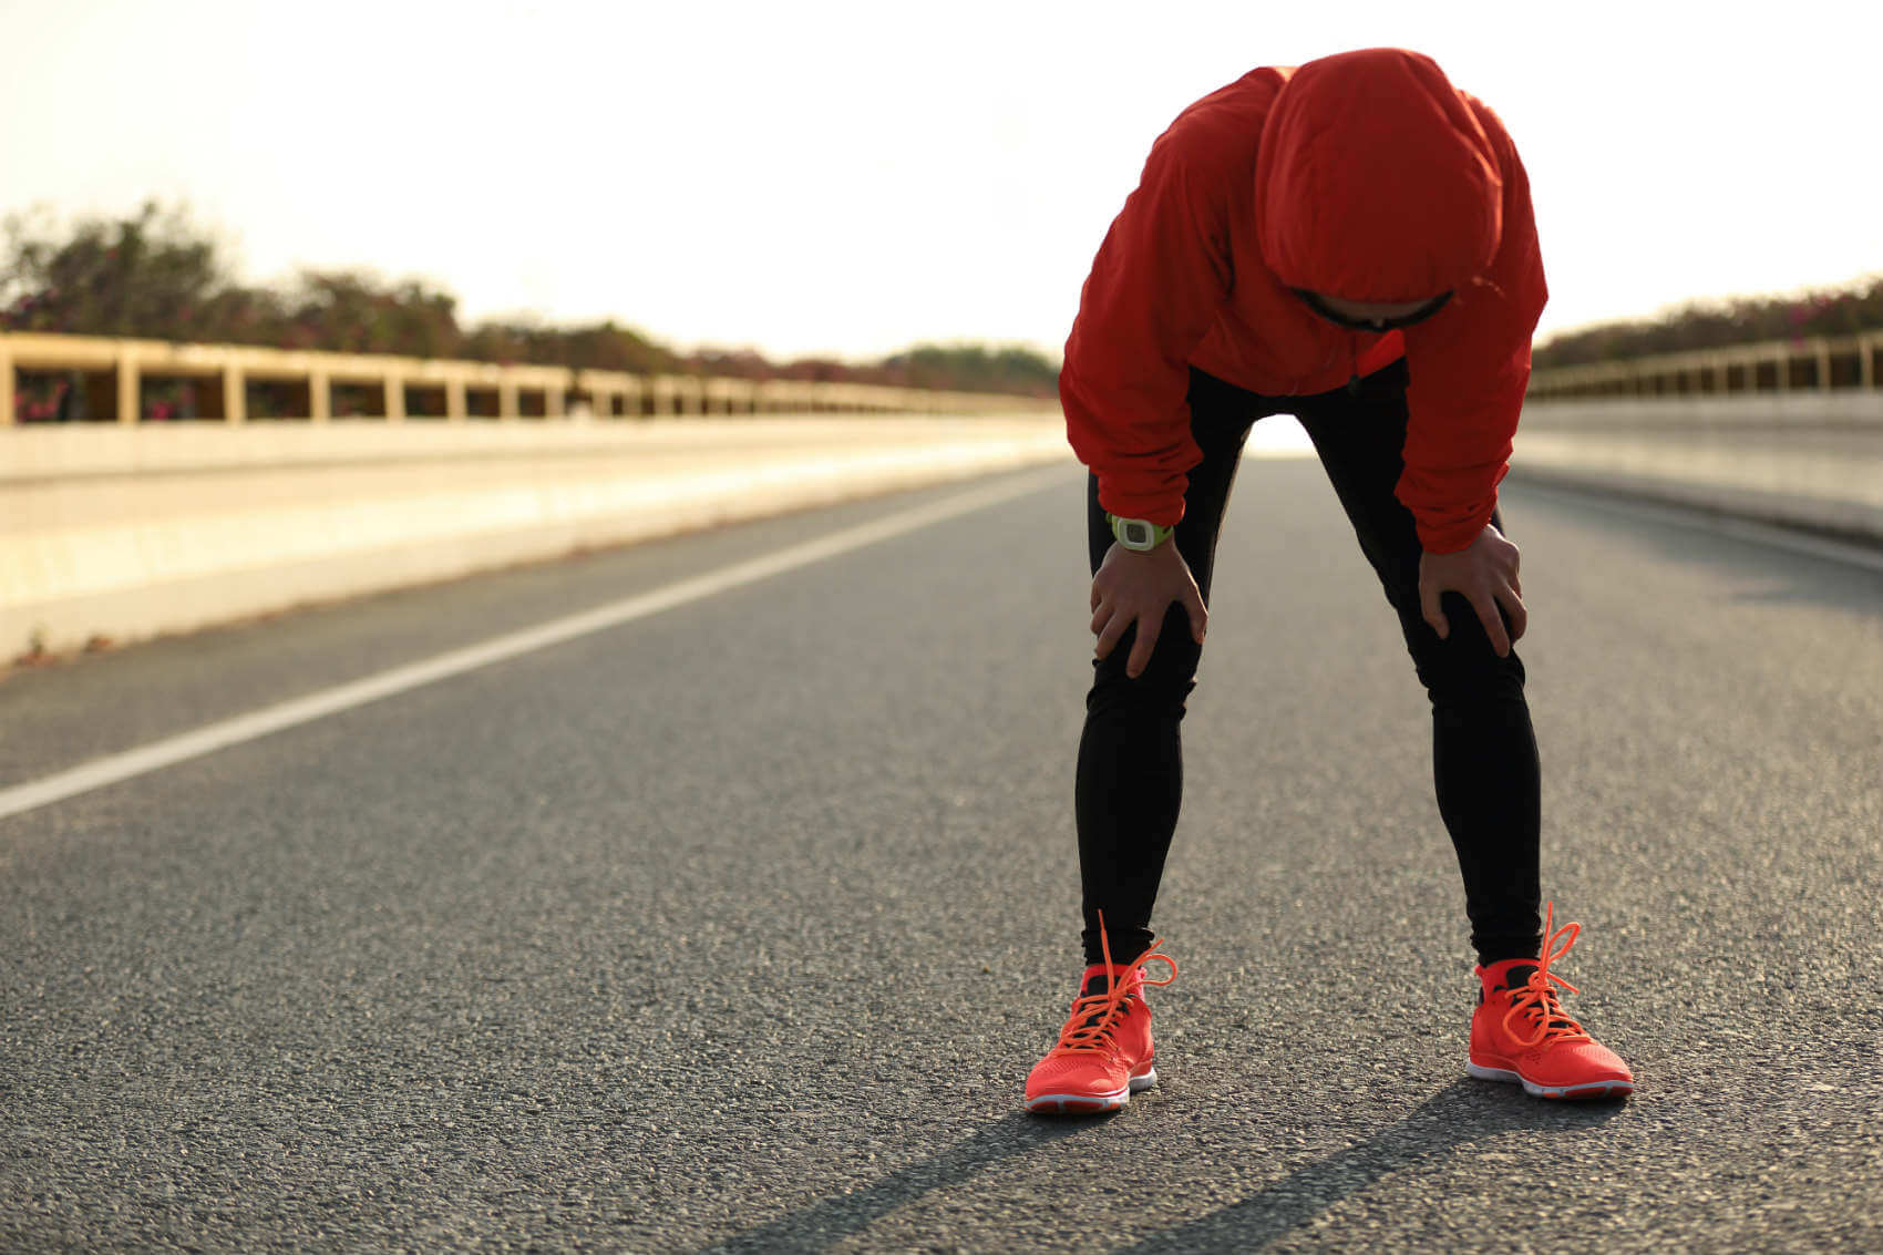
<svg viewBox="0 0 1883 1255">
<path fill-rule="evenodd" d="M 284 727 L 298 727 L 328 714 L 352 710 L 354 707 L 363 707 L 365 703 L 378 701 L 380 697 L 405 693 L 422 684 L 446 680 L 454 675 L 463 675 L 478 667 L 518 658 L 520 654 L 529 654 L 550 644 L 561 644 L 563 641 L 616 628 L 636 618 L 648 618 L 650 614 L 659 614 L 661 611 L 670 611 L 674 607 L 687 605 L 689 601 L 700 601 L 702 597 L 712 597 L 714 594 L 721 594 L 742 584 L 753 584 L 774 575 L 783 575 L 785 571 L 795 571 L 797 567 L 808 567 L 813 562 L 823 562 L 857 548 L 866 548 L 879 541 L 919 531 L 947 518 L 957 518 L 958 514 L 970 514 L 990 505 L 1000 505 L 1002 501 L 1024 497 L 1039 492 L 1049 482 L 1071 482 L 1071 477 L 1064 465 L 1054 465 L 1049 471 L 1034 471 L 1032 475 L 1022 475 L 1019 479 L 987 484 L 970 492 L 958 492 L 951 497 L 930 501 L 928 505 L 919 505 L 874 522 L 845 528 L 844 531 L 834 531 L 827 537 L 806 541 L 804 545 L 793 545 L 791 548 L 781 548 L 763 558 L 738 562 L 731 567 L 721 567 L 706 575 L 680 580 L 678 584 L 667 584 L 665 588 L 655 588 L 653 592 L 646 592 L 636 597 L 625 597 L 593 611 L 582 611 L 580 614 L 569 614 L 548 624 L 493 637 L 480 644 L 469 644 L 448 654 L 439 654 L 437 658 L 407 663 L 405 667 L 380 671 L 378 675 L 365 676 L 363 680 L 352 680 L 305 697 L 296 697 L 294 701 L 282 701 L 275 707 L 239 714 L 218 724 L 198 727 L 196 731 L 154 741 L 136 750 L 98 758 L 55 776 L 45 776 L 43 780 L 32 780 L 28 784 L 0 790 L 0 820 L 24 810 L 34 810 L 38 807 L 47 807 L 68 797 L 77 797 L 79 793 L 89 793 L 92 790 L 105 788 L 107 784 L 130 780 L 132 776 L 141 776 L 173 763 L 201 758 L 203 754 L 215 754 L 217 750 L 254 741 L 258 737 L 282 731 Z"/>
</svg>

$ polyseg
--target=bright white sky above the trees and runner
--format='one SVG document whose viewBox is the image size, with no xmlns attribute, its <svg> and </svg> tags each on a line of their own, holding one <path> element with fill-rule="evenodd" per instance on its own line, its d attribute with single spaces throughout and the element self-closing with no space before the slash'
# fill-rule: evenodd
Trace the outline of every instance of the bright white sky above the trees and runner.
<svg viewBox="0 0 1883 1255">
<path fill-rule="evenodd" d="M 1395 43 L 1531 171 L 1542 332 L 1883 269 L 1883 6 L 0 0 L 0 213 L 188 202 L 250 283 L 676 347 L 1058 354 L 1183 106 Z"/>
</svg>

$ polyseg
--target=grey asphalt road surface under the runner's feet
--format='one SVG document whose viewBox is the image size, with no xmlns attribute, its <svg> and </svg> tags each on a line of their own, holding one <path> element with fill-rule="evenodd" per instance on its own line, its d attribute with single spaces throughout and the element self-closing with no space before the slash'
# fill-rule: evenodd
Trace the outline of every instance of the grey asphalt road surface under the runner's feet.
<svg viewBox="0 0 1883 1255">
<path fill-rule="evenodd" d="M 0 682 L 0 788 L 894 514 Z M 1627 1102 L 1463 1074 L 1397 628 L 1250 462 L 1164 1084 L 1021 1112 L 1079 969 L 1077 471 L 0 820 L 0 1249 L 1883 1247 L 1883 580 L 1514 484 L 1546 889 Z"/>
</svg>

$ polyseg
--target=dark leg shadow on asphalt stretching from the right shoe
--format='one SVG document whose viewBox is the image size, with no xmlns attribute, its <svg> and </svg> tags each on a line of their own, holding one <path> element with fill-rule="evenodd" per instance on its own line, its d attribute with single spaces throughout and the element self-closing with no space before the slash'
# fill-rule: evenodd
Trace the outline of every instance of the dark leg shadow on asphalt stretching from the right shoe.
<svg viewBox="0 0 1883 1255">
<path fill-rule="evenodd" d="M 1459 1078 L 1405 1119 L 1339 1153 L 1316 1159 L 1267 1189 L 1124 1247 L 1154 1251 L 1254 1251 L 1314 1221 L 1384 1176 L 1505 1133 L 1574 1133 L 1619 1114 L 1627 1100 L 1550 1102 L 1506 1085 Z M 1548 1151 L 1538 1151 L 1546 1155 Z"/>
</svg>

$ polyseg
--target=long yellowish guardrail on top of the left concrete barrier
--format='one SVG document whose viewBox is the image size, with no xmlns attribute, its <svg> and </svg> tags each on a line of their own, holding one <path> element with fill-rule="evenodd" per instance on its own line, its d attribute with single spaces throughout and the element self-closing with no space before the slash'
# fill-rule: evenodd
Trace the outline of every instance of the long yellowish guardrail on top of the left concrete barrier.
<svg viewBox="0 0 1883 1255">
<path fill-rule="evenodd" d="M 15 424 L 19 384 L 60 375 L 83 381 L 87 416 L 119 424 L 153 418 L 247 422 L 250 390 L 288 398 L 271 418 L 335 416 L 565 418 L 644 415 L 917 413 L 985 415 L 1051 405 L 989 392 L 938 392 L 795 379 L 631 375 L 563 366 L 495 366 L 363 352 L 296 352 L 247 345 L 183 345 L 92 335 L 0 334 L 0 426 Z M 181 401 L 154 401 L 156 392 Z M 341 401 L 335 405 L 335 394 Z M 70 403 L 68 403 L 70 405 Z M 175 413 L 171 413 L 171 409 Z M 281 405 L 275 405 L 279 411 Z M 68 409 L 70 415 L 70 409 Z M 30 418 L 55 418 L 55 413 Z"/>
</svg>

